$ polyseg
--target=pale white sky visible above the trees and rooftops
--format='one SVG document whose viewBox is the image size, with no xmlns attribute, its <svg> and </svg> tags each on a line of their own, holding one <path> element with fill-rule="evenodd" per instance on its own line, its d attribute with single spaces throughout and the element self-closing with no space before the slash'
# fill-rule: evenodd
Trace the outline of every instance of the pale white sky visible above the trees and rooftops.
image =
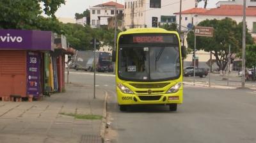
<svg viewBox="0 0 256 143">
<path fill-rule="evenodd" d="M 74 18 L 75 13 L 83 13 L 89 6 L 95 6 L 101 3 L 107 3 L 111 0 L 66 0 L 66 4 L 62 4 L 61 7 L 56 11 L 56 17 L 67 17 Z M 115 1 L 115 0 L 112 0 Z M 124 4 L 125 0 L 117 0 L 117 3 Z M 179 1 L 179 0 L 170 0 L 170 1 Z M 194 0 L 186 0 L 186 1 L 194 1 Z M 215 4 L 219 0 L 209 0 L 207 4 L 207 8 L 215 8 Z M 204 3 L 198 4 L 198 7 L 204 7 Z"/>
</svg>

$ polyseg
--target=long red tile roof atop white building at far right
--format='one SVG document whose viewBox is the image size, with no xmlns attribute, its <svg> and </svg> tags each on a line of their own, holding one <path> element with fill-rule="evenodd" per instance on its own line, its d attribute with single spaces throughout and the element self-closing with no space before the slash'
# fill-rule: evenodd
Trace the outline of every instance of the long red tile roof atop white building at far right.
<svg viewBox="0 0 256 143">
<path fill-rule="evenodd" d="M 221 5 L 220 8 L 212 8 L 205 11 L 205 13 L 199 13 L 198 15 L 220 15 L 220 16 L 242 16 L 243 5 Z M 246 16 L 256 16 L 256 8 L 246 8 Z"/>
</svg>

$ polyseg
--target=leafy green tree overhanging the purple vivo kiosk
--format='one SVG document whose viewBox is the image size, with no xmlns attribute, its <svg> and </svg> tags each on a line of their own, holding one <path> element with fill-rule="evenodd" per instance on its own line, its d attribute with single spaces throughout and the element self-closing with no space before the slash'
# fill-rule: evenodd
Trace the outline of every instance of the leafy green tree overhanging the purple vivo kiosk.
<svg viewBox="0 0 256 143">
<path fill-rule="evenodd" d="M 42 11 L 40 3 L 45 8 Z M 64 0 L 12 0 L 0 1 L 0 28 L 1 29 L 47 29 L 60 33 L 60 24 L 54 16 Z M 45 13 L 49 18 L 40 16 Z M 44 22 L 44 24 L 40 23 Z M 49 25 L 45 25 L 49 24 Z M 53 24 L 53 25 L 52 25 Z M 52 29 L 51 29 L 52 27 Z M 54 30 L 55 29 L 55 30 Z"/>
</svg>

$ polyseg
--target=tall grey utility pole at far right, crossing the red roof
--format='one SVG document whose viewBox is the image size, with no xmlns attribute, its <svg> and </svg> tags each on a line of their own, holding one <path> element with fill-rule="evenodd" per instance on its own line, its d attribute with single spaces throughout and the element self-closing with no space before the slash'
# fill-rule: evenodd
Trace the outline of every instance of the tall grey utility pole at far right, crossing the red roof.
<svg viewBox="0 0 256 143">
<path fill-rule="evenodd" d="M 242 54 L 242 88 L 245 87 L 245 31 L 246 31 L 246 0 L 243 6 L 243 54 Z"/>
</svg>

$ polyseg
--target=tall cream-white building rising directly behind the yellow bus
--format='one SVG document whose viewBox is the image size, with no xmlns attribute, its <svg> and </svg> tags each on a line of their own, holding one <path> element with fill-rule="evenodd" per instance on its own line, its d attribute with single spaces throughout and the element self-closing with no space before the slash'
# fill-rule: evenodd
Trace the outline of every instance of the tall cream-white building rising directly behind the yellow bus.
<svg viewBox="0 0 256 143">
<path fill-rule="evenodd" d="M 182 10 L 195 8 L 195 1 L 182 1 Z M 173 14 L 180 9 L 180 0 L 125 0 L 125 28 L 157 27 L 158 23 L 176 22 Z"/>
</svg>

